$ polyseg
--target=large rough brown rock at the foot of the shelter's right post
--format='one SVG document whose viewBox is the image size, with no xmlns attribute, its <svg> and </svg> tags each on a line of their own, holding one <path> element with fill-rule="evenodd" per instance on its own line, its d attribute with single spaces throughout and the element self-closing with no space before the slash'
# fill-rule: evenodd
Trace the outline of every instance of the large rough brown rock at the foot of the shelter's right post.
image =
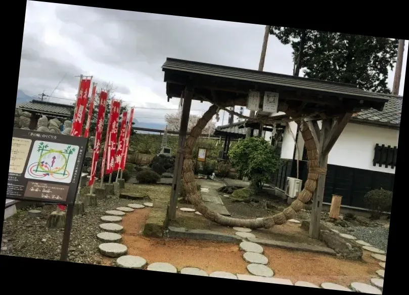
<svg viewBox="0 0 409 295">
<path fill-rule="evenodd" d="M 347 240 L 338 234 L 322 230 L 320 240 L 333 249 L 341 258 L 360 260 L 362 258 L 362 247 L 353 241 Z"/>
</svg>

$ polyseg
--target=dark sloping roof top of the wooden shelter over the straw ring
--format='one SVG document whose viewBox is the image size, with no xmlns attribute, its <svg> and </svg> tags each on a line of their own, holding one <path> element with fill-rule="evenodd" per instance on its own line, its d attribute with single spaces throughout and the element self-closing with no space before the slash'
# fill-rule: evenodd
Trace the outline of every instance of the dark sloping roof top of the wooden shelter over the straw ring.
<svg viewBox="0 0 409 295">
<path fill-rule="evenodd" d="M 299 90 L 311 90 L 323 95 L 338 94 L 342 97 L 352 99 L 363 99 L 366 101 L 385 102 L 382 95 L 374 92 L 363 91 L 355 85 L 296 77 L 250 69 L 242 69 L 194 61 L 167 58 L 162 66 L 162 70 L 173 70 L 189 72 L 193 74 L 210 75 L 214 77 L 243 80 L 256 83 L 265 83 L 280 87 L 289 87 Z"/>
</svg>

